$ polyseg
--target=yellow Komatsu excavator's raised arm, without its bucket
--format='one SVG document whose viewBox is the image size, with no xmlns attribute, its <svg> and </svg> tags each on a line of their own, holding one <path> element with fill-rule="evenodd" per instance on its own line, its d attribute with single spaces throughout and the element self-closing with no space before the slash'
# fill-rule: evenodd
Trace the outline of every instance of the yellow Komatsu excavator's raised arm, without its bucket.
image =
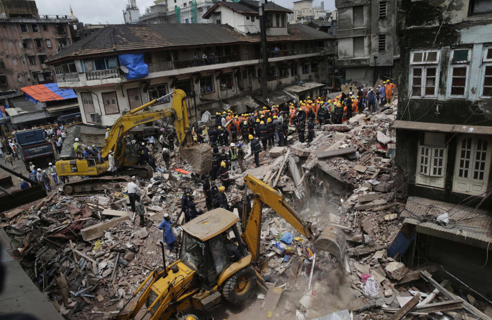
<svg viewBox="0 0 492 320">
<path fill-rule="evenodd" d="M 173 103 L 171 108 L 160 109 L 160 110 L 151 110 L 151 111 L 139 111 L 154 105 L 159 99 L 154 99 L 153 101 L 140 106 L 136 109 L 131 110 L 130 112 L 121 115 L 116 122 L 111 127 L 109 131 L 108 138 L 104 144 L 103 150 L 101 150 L 101 156 L 107 157 L 110 150 L 116 152 L 115 148 L 118 142 L 121 140 L 125 134 L 130 131 L 132 128 L 145 124 L 148 122 L 153 122 L 161 118 L 166 118 L 170 116 L 174 116 L 174 127 L 176 128 L 176 134 L 178 136 L 178 141 L 181 145 L 183 145 L 186 141 L 187 134 L 190 134 L 190 124 L 188 121 L 188 108 L 186 106 L 186 94 L 181 89 L 176 89 L 173 91 Z"/>
</svg>

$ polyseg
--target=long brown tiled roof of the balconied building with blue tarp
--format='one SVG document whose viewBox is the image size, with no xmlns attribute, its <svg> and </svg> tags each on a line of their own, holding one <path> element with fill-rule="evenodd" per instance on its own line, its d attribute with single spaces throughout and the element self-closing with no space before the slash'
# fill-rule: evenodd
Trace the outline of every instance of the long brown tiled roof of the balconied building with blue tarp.
<svg viewBox="0 0 492 320">
<path fill-rule="evenodd" d="M 268 36 L 269 42 L 328 39 L 331 36 L 305 25 L 288 25 L 288 34 Z M 260 34 L 245 35 L 229 25 L 217 24 L 150 24 L 111 25 L 99 29 L 48 59 L 101 56 L 142 52 L 172 47 L 207 46 L 216 44 L 259 43 Z"/>
</svg>

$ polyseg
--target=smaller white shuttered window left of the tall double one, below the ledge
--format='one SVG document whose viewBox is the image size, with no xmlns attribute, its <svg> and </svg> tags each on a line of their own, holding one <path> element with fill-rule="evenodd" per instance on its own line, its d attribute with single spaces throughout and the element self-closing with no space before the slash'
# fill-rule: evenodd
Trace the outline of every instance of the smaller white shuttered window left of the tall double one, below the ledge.
<svg viewBox="0 0 492 320">
<path fill-rule="evenodd" d="M 423 151 L 427 151 L 427 155 L 423 155 Z M 439 154 L 436 153 L 442 153 L 442 156 L 439 156 Z M 427 158 L 426 164 L 422 163 L 422 159 L 424 157 Z M 442 161 L 439 165 L 437 162 L 440 158 L 442 158 Z M 443 189 L 446 175 L 446 162 L 446 147 L 436 147 L 419 144 L 415 184 Z M 422 172 L 422 168 L 425 169 L 425 172 Z M 441 169 L 441 172 L 438 172 L 439 169 Z"/>
</svg>

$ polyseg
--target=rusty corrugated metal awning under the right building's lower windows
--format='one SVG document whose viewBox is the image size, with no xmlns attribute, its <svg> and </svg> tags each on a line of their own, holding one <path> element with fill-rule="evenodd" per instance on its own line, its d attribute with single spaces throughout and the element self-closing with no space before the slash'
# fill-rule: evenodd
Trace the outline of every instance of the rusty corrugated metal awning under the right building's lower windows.
<svg viewBox="0 0 492 320">
<path fill-rule="evenodd" d="M 437 221 L 437 216 L 445 212 L 449 216 L 447 225 Z M 404 223 L 492 242 L 492 215 L 484 209 L 411 196 L 401 216 L 405 217 Z"/>
</svg>

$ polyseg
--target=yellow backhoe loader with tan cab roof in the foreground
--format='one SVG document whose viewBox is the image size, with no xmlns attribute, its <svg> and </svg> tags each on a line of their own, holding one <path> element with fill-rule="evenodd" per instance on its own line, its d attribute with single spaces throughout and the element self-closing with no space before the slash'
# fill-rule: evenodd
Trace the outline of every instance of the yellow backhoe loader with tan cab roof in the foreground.
<svg viewBox="0 0 492 320">
<path fill-rule="evenodd" d="M 115 319 L 136 319 L 138 314 L 138 319 L 167 320 L 177 317 L 197 320 L 198 317 L 193 314 L 179 314 L 189 307 L 211 310 L 220 304 L 221 297 L 232 304 L 248 299 L 257 278 L 261 278 L 252 264 L 260 254 L 263 205 L 283 217 L 316 249 L 330 252 L 342 262 L 346 243 L 339 228 L 329 227 L 319 232 L 296 214 L 280 192 L 251 175 L 246 175 L 244 182 L 255 196 L 251 212 L 242 214 L 241 229 L 244 232 L 240 233 L 237 228 L 238 216 L 221 208 L 203 213 L 181 226 L 183 234 L 179 259 L 166 267 L 161 243 L 163 268 L 149 274 L 128 301 L 130 303 L 138 297 L 132 309 L 129 312 L 120 311 Z M 226 249 L 231 244 L 239 252 L 234 257 Z M 142 309 L 144 306 L 145 309 Z"/>
</svg>

